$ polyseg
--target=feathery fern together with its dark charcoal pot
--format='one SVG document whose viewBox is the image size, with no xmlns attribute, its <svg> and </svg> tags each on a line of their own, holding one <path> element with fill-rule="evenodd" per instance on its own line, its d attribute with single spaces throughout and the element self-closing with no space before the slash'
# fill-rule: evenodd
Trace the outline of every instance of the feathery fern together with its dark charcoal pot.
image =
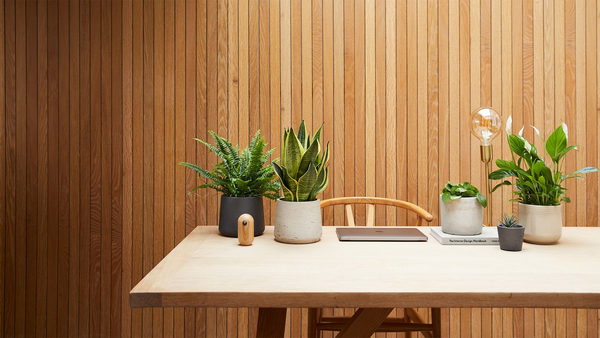
<svg viewBox="0 0 600 338">
<path fill-rule="evenodd" d="M 265 214 L 263 197 L 277 199 L 279 183 L 274 181 L 273 167 L 266 165 L 269 156 L 275 149 L 263 152 L 266 146 L 265 138 L 256 131 L 250 145 L 239 152 L 239 146 L 233 146 L 229 140 L 209 131 L 215 139 L 213 146 L 205 140 L 197 140 L 214 152 L 221 161 L 214 164 L 214 169 L 208 171 L 196 164 L 179 162 L 182 166 L 195 171 L 203 184 L 191 190 L 209 188 L 221 194 L 219 213 L 219 232 L 223 236 L 238 237 L 238 217 L 250 214 L 254 219 L 254 236 L 262 235 L 265 231 Z M 273 163 L 279 159 L 275 159 Z M 208 181 L 207 181 L 208 180 Z"/>
</svg>

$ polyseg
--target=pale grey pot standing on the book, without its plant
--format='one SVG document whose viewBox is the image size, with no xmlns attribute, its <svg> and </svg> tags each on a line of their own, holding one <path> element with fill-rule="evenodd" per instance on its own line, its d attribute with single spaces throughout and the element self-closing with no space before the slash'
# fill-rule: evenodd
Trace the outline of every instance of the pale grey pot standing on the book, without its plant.
<svg viewBox="0 0 600 338">
<path fill-rule="evenodd" d="M 442 201 L 440 195 L 440 222 L 442 231 L 452 235 L 479 235 L 484 228 L 484 207 L 476 197 L 462 197 Z"/>
</svg>

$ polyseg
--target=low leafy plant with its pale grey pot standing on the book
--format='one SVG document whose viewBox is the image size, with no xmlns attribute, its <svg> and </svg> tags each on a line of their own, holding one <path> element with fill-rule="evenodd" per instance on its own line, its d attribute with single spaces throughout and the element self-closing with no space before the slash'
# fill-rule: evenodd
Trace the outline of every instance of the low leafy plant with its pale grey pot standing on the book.
<svg viewBox="0 0 600 338">
<path fill-rule="evenodd" d="M 483 229 L 487 199 L 469 182 L 450 181 L 440 195 L 442 231 L 452 235 L 479 235 Z"/>
</svg>

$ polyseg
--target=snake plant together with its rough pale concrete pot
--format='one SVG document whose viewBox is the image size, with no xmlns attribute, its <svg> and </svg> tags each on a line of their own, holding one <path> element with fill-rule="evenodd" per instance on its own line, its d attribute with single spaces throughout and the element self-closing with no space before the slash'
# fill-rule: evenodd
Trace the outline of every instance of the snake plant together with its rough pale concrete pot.
<svg viewBox="0 0 600 338">
<path fill-rule="evenodd" d="M 321 238 L 321 207 L 317 194 L 329 182 L 329 142 L 321 154 L 321 129 L 313 137 L 304 120 L 298 128 L 284 130 L 281 166 L 273 163 L 283 188 L 283 198 L 275 202 L 275 239 L 283 243 L 314 243 Z"/>
</svg>

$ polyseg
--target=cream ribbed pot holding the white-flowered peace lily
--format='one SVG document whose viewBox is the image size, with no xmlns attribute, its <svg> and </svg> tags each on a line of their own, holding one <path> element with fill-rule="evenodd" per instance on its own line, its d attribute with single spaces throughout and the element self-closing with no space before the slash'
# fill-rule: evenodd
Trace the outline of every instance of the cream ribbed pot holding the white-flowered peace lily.
<svg viewBox="0 0 600 338">
<path fill-rule="evenodd" d="M 519 203 L 523 240 L 535 244 L 554 244 L 562 236 L 562 205 Z"/>
</svg>

